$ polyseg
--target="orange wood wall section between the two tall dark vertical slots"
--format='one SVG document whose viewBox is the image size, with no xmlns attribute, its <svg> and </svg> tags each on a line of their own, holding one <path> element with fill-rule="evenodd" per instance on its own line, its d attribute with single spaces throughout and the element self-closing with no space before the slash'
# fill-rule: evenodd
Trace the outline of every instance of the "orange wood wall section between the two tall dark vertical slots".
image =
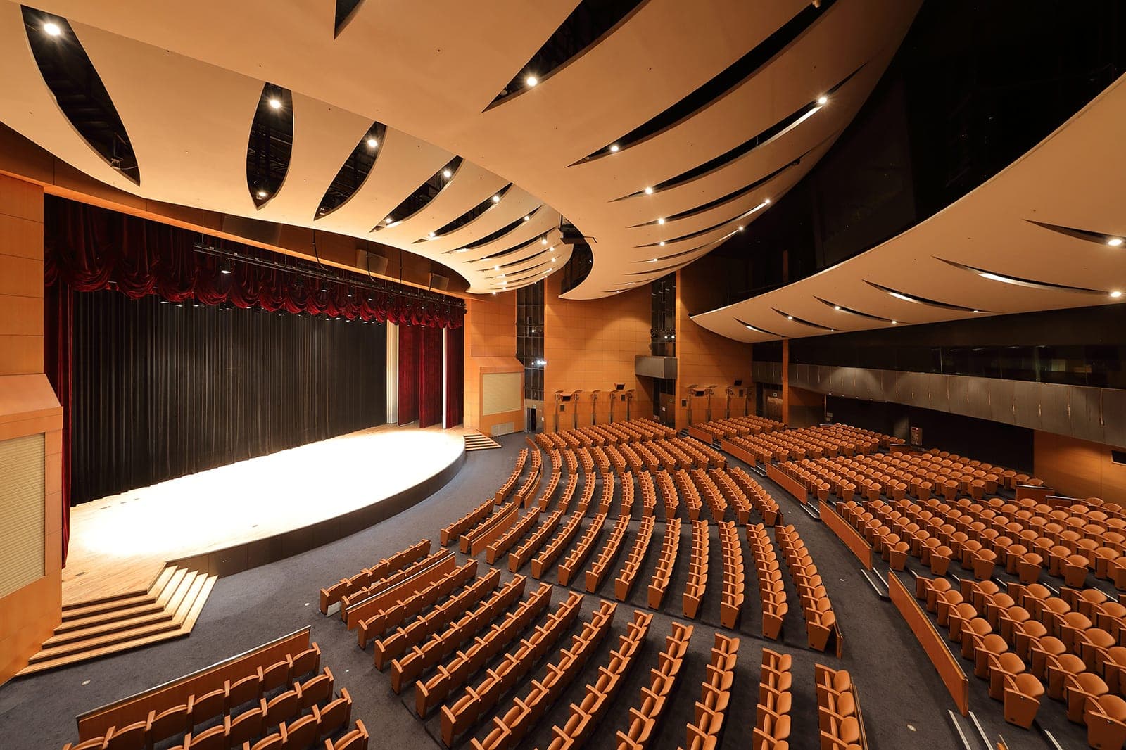
<svg viewBox="0 0 1126 750">
<path fill-rule="evenodd" d="M 561 300 L 561 275 L 545 279 L 544 289 L 544 429 L 553 430 L 555 392 L 582 390 L 578 401 L 579 426 L 590 425 L 590 392 L 599 390 L 595 404 L 598 423 L 610 419 L 609 392 L 615 383 L 635 389 L 631 416 L 652 417 L 653 395 L 647 378 L 634 374 L 634 358 L 649 354 L 652 327 L 650 285 L 601 300 Z M 560 429 L 573 425 L 575 402 L 558 414 Z M 625 404 L 615 403 L 614 419 L 625 419 Z"/>
</svg>

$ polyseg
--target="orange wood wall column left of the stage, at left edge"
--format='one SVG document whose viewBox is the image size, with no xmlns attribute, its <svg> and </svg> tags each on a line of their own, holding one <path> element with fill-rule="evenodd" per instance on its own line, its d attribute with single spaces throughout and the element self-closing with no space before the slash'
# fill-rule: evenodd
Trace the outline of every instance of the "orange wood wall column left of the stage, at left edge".
<svg viewBox="0 0 1126 750">
<path fill-rule="evenodd" d="M 42 548 L 43 575 L 0 592 L 0 684 L 62 615 L 62 408 L 44 375 L 43 321 L 43 188 L 0 175 L 0 440 L 44 436 L 42 497 L 6 498 L 43 503 L 43 527 L 20 532 L 35 535 L 20 542 Z"/>
</svg>

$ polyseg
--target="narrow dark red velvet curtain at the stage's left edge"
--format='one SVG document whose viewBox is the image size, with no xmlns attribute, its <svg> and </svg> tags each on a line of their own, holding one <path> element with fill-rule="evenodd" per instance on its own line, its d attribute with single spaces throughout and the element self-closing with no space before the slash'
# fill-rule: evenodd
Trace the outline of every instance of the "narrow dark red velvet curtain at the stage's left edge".
<svg viewBox="0 0 1126 750">
<path fill-rule="evenodd" d="M 70 545 L 70 502 L 71 502 L 71 426 L 73 420 L 72 393 L 74 390 L 71 359 L 74 340 L 74 293 L 62 284 L 52 284 L 44 289 L 44 323 L 43 339 L 44 370 L 47 381 L 55 390 L 55 396 L 63 408 L 62 436 L 62 527 L 63 527 L 63 568 L 66 566 L 66 550 Z"/>
</svg>

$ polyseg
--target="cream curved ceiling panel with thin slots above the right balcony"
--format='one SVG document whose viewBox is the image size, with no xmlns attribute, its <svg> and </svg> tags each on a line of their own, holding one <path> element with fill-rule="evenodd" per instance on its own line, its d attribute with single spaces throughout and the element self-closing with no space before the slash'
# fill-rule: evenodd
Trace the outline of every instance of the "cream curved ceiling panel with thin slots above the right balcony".
<svg viewBox="0 0 1126 750">
<path fill-rule="evenodd" d="M 694 315 L 742 341 L 1126 301 L 1126 77 L 1028 153 L 897 236 L 819 274 Z M 1061 231 L 1061 227 L 1067 227 Z M 777 310 L 794 316 L 779 318 Z"/>
</svg>

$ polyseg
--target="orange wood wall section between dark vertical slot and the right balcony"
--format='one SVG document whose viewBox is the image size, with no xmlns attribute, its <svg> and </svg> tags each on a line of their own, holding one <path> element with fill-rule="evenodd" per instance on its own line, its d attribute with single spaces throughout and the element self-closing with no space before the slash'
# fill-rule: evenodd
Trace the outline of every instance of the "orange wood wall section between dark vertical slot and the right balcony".
<svg viewBox="0 0 1126 750">
<path fill-rule="evenodd" d="M 686 284 L 703 283 L 689 279 L 677 271 L 677 429 L 688 427 L 688 408 L 680 405 L 688 398 L 689 385 L 718 385 L 712 396 L 712 419 L 723 419 L 727 395 L 724 387 L 736 380 L 743 381 L 751 402 L 748 412 L 754 413 L 754 394 L 751 385 L 751 345 L 734 341 L 708 331 L 692 322 L 685 298 L 696 289 Z M 692 422 L 707 420 L 707 399 L 692 398 Z M 743 413 L 743 401 L 732 396 L 732 416 Z"/>
</svg>

